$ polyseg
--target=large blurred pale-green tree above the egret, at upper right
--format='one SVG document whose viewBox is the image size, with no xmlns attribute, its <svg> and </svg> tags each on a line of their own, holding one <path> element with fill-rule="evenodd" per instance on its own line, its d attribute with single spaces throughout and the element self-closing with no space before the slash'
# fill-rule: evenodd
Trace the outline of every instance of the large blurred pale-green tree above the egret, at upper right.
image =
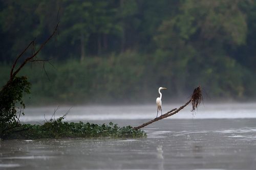
<svg viewBox="0 0 256 170">
<path fill-rule="evenodd" d="M 174 72 L 168 79 L 175 80 L 176 88 L 187 84 L 181 80 L 195 79 L 216 95 L 225 90 L 232 91 L 227 95 L 243 95 L 242 69 L 227 48 L 246 43 L 247 22 L 240 2 L 184 1 L 176 16 L 162 22 L 155 36 L 158 56 L 164 56 L 161 62 Z"/>
</svg>

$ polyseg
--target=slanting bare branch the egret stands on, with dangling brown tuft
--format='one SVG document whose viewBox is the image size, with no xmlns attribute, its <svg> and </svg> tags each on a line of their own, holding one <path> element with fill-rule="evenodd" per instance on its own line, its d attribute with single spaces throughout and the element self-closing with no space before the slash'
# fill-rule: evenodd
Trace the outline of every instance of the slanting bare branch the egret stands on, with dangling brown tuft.
<svg viewBox="0 0 256 170">
<path fill-rule="evenodd" d="M 184 107 L 186 107 L 190 102 L 192 102 L 192 111 L 194 111 L 199 106 L 199 104 L 201 103 L 202 100 L 203 100 L 203 96 L 202 96 L 201 87 L 198 86 L 197 88 L 195 88 L 195 90 L 194 90 L 193 94 L 191 95 L 191 98 L 189 99 L 189 101 L 187 103 L 185 103 L 183 106 L 181 106 L 179 109 L 175 108 L 173 110 L 170 110 L 167 113 L 165 113 L 165 114 L 163 114 L 163 115 L 161 115 L 161 116 L 159 116 L 159 117 L 157 117 L 153 120 L 148 121 L 147 123 L 144 123 L 140 126 L 134 127 L 134 129 L 135 130 L 141 129 L 141 128 L 147 126 L 147 125 L 150 125 L 154 122 L 157 122 L 158 120 L 161 120 L 163 118 L 172 116 L 172 115 L 178 113 Z"/>
</svg>

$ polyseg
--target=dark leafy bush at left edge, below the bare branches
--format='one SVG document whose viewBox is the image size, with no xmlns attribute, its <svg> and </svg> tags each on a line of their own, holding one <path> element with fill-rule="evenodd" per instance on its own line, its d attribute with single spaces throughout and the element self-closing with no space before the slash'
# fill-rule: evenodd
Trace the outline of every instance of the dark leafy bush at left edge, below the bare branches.
<svg viewBox="0 0 256 170">
<path fill-rule="evenodd" d="M 25 104 L 23 94 L 29 93 L 30 83 L 26 77 L 14 77 L 0 91 L 0 137 L 19 124 Z M 17 110 L 19 113 L 17 113 Z"/>
</svg>

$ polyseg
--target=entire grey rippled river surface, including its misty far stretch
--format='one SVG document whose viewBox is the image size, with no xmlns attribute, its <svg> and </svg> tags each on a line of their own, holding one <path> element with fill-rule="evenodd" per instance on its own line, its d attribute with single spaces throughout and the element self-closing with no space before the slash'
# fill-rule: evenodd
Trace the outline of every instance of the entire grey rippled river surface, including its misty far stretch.
<svg viewBox="0 0 256 170">
<path fill-rule="evenodd" d="M 22 121 L 41 123 L 54 109 L 28 108 Z M 61 107 L 55 117 L 69 109 Z M 145 139 L 0 141 L 0 169 L 256 169 L 255 103 L 190 109 L 146 126 Z M 155 118 L 154 110 L 154 105 L 74 106 L 66 121 L 139 126 Z"/>
</svg>

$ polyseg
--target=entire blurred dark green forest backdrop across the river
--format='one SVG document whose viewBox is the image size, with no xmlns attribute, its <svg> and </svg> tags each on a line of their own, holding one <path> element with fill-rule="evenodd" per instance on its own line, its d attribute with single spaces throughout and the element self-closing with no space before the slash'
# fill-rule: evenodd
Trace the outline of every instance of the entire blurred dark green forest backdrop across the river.
<svg viewBox="0 0 256 170">
<path fill-rule="evenodd" d="M 50 81 L 42 67 L 24 70 L 34 104 L 148 102 L 159 86 L 176 99 L 198 85 L 212 100 L 255 99 L 255 11 L 246 0 L 1 0 L 0 85 L 60 21 L 39 56 L 53 58 Z"/>
</svg>

